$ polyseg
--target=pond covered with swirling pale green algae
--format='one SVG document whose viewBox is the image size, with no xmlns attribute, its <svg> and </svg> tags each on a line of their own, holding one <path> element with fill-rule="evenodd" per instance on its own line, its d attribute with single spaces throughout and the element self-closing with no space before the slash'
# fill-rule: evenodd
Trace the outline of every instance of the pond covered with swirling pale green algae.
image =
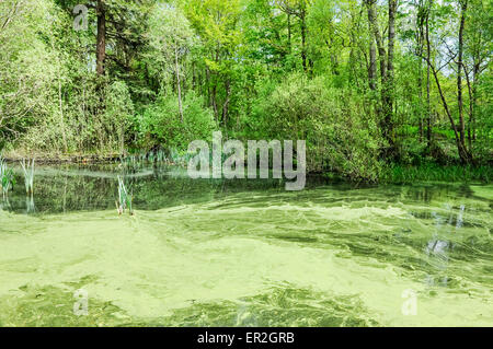
<svg viewBox="0 0 493 349">
<path fill-rule="evenodd" d="M 26 197 L 20 175 L 0 206 L 1 326 L 493 325 L 491 185 L 285 191 L 54 165 Z"/>
</svg>

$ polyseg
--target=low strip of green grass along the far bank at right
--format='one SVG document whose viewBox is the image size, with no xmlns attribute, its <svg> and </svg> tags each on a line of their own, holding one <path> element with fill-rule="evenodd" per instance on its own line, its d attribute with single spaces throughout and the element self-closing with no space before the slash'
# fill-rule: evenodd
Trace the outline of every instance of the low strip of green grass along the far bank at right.
<svg viewBox="0 0 493 349">
<path fill-rule="evenodd" d="M 423 182 L 482 182 L 493 179 L 492 166 L 447 165 L 425 163 L 419 166 L 392 165 L 385 170 L 381 183 L 414 183 Z"/>
</svg>

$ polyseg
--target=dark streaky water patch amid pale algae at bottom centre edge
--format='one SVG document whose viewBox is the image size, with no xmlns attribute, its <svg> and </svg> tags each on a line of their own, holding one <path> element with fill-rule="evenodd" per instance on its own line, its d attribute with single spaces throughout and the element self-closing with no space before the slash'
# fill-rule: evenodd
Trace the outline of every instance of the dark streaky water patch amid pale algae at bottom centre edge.
<svg viewBox="0 0 493 349">
<path fill-rule="evenodd" d="M 309 289 L 275 288 L 237 301 L 194 303 L 158 326 L 378 326 L 357 295 L 331 295 Z"/>
</svg>

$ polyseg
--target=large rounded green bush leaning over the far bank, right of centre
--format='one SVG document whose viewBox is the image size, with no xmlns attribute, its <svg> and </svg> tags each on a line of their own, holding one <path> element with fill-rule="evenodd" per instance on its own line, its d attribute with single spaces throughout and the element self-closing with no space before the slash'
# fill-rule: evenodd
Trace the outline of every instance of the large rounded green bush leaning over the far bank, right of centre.
<svg viewBox="0 0 493 349">
<path fill-rule="evenodd" d="M 267 137 L 305 139 L 309 171 L 332 171 L 352 181 L 378 179 L 382 138 L 364 96 L 323 79 L 294 74 L 260 102 L 255 125 Z"/>
</svg>

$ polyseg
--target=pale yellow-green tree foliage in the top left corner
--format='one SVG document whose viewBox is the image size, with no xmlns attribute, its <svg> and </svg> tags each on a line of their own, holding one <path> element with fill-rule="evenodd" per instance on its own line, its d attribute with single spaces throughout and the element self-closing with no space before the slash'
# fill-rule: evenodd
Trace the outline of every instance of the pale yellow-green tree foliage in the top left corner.
<svg viewBox="0 0 493 349">
<path fill-rule="evenodd" d="M 49 114 L 55 75 L 55 56 L 37 35 L 49 31 L 51 3 L 16 2 L 0 2 L 0 148 Z"/>
</svg>

